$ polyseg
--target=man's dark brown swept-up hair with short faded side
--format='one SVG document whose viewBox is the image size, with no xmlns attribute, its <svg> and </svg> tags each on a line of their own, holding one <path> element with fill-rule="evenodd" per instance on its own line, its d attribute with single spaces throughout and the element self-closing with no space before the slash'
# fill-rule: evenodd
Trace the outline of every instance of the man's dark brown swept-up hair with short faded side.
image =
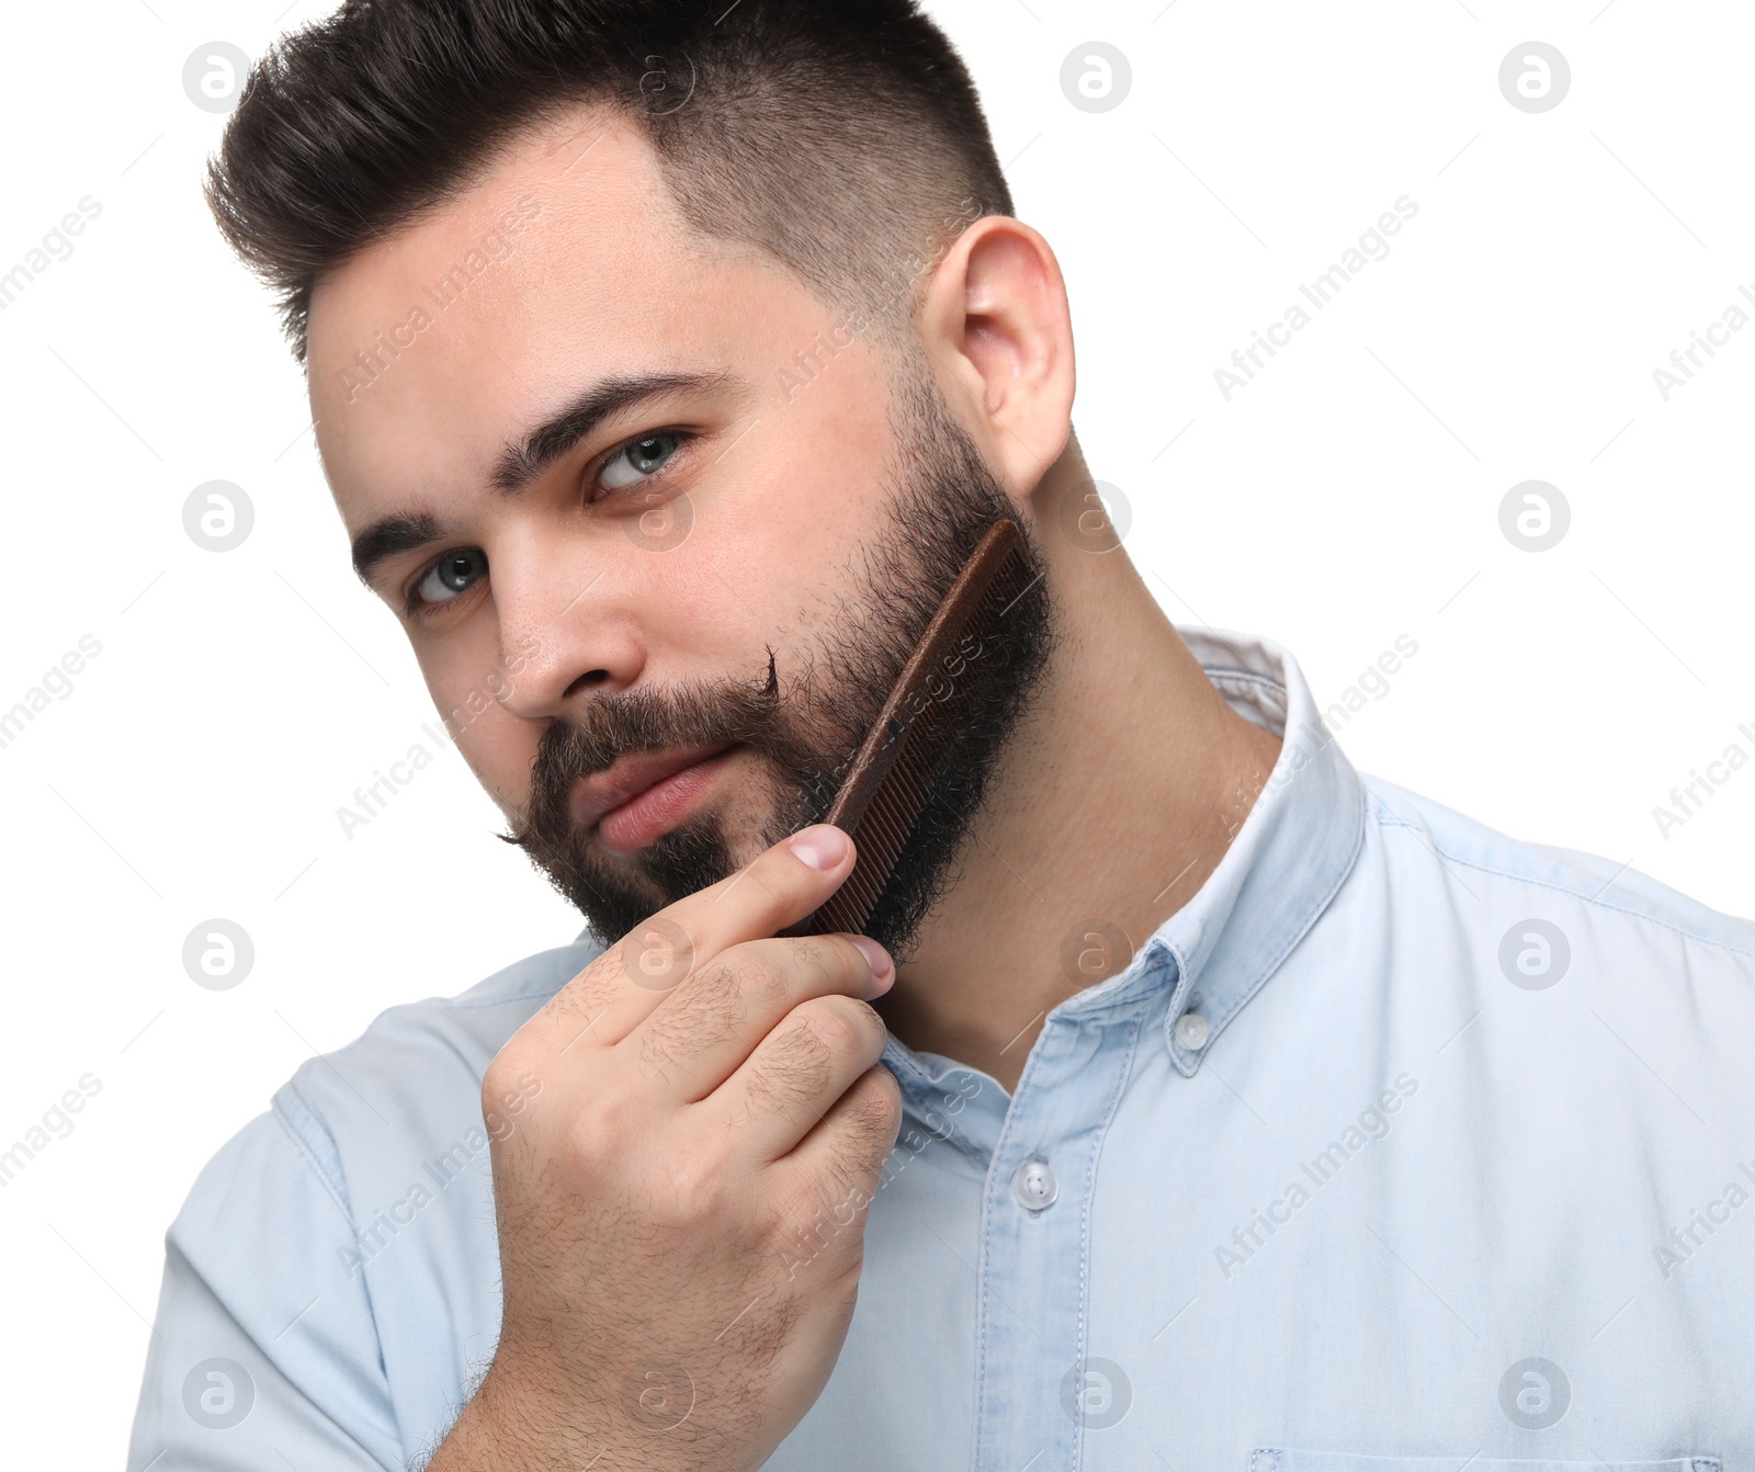
<svg viewBox="0 0 1755 1472">
<path fill-rule="evenodd" d="M 921 261 L 1013 212 L 969 72 L 914 0 L 346 0 L 251 68 L 204 189 L 304 363 L 318 281 L 581 104 L 644 128 L 702 235 L 885 337 Z"/>
</svg>

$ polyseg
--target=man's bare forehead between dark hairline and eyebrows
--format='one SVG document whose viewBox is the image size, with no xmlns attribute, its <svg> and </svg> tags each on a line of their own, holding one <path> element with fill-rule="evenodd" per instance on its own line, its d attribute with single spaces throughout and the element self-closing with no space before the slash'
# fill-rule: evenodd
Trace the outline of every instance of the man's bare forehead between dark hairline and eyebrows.
<svg viewBox="0 0 1755 1472">
<path fill-rule="evenodd" d="M 809 293 L 693 232 L 639 126 L 581 109 L 316 286 L 318 449 L 351 525 L 398 493 L 479 481 L 588 379 L 720 372 L 788 316 L 811 319 Z"/>
</svg>

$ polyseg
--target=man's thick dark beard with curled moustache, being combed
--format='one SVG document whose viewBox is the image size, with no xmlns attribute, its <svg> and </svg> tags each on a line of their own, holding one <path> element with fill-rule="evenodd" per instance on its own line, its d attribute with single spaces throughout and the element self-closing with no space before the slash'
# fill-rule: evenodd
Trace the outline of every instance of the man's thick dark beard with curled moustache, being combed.
<svg viewBox="0 0 1755 1472">
<path fill-rule="evenodd" d="M 502 837 L 525 849 L 604 944 L 821 821 L 939 604 L 983 533 L 1006 518 L 1023 533 L 1028 588 L 993 621 L 992 635 L 983 633 L 983 658 L 967 667 L 960 718 L 925 753 L 927 805 L 863 933 L 906 960 L 955 884 L 956 856 L 988 777 L 1058 639 L 1041 549 L 951 418 L 925 361 L 914 354 L 893 386 L 900 463 L 885 467 L 883 526 L 856 549 L 855 591 L 839 600 L 841 612 L 825 621 L 823 633 L 797 651 L 797 672 L 783 682 L 767 649 L 763 661 L 751 661 L 762 667 L 755 679 L 635 686 L 590 700 L 542 733 L 525 812 Z M 772 786 L 763 818 L 739 830 L 746 849 L 755 846 L 742 860 L 734 856 L 721 814 L 707 807 L 620 860 L 593 846 L 572 818 L 574 784 L 625 753 L 734 742 L 762 758 Z"/>
</svg>

